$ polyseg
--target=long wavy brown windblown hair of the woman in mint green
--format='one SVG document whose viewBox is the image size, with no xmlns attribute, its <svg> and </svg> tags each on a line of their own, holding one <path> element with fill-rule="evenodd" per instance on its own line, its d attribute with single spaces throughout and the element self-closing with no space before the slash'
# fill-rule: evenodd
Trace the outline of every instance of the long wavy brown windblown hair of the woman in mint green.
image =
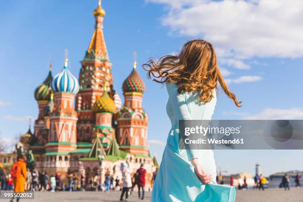
<svg viewBox="0 0 303 202">
<path fill-rule="evenodd" d="M 201 92 L 200 101 L 209 102 L 219 81 L 225 94 L 240 107 L 241 101 L 229 91 L 220 72 L 213 46 L 204 40 L 192 40 L 183 45 L 179 55 L 166 55 L 158 61 L 150 59 L 143 68 L 148 78 L 178 86 L 178 93 Z M 159 80 L 158 80 L 159 79 Z"/>
</svg>

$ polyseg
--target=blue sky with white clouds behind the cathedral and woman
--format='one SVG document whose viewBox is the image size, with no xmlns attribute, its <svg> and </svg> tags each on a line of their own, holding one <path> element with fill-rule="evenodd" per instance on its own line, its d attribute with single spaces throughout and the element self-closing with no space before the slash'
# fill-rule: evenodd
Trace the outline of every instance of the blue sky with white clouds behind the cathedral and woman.
<svg viewBox="0 0 303 202">
<path fill-rule="evenodd" d="M 217 50 L 230 89 L 243 101 L 237 108 L 219 91 L 213 119 L 303 118 L 302 1 L 102 0 L 106 11 L 104 37 L 114 87 L 150 57 L 178 52 L 190 39 L 206 39 Z M 0 6 L 0 137 L 9 143 L 28 129 L 38 106 L 33 93 L 48 74 L 63 67 L 68 49 L 71 72 L 78 77 L 80 61 L 94 31 L 97 0 L 2 1 Z M 281 9 L 280 9 L 281 8 Z M 283 9 L 282 9 L 283 8 Z M 275 12 L 275 10 L 283 10 Z M 151 153 L 160 160 L 170 122 L 165 88 L 148 80 L 143 106 L 149 113 Z M 303 170 L 303 151 L 215 151 L 218 169 L 265 175 Z"/>
</svg>

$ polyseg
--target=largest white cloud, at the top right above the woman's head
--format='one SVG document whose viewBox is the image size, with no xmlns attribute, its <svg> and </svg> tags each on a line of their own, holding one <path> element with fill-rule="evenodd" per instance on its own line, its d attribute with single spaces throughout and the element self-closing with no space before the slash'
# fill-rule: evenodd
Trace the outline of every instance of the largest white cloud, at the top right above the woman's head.
<svg viewBox="0 0 303 202">
<path fill-rule="evenodd" d="M 303 0 L 146 0 L 163 3 L 162 25 L 211 42 L 221 57 L 303 56 Z"/>
</svg>

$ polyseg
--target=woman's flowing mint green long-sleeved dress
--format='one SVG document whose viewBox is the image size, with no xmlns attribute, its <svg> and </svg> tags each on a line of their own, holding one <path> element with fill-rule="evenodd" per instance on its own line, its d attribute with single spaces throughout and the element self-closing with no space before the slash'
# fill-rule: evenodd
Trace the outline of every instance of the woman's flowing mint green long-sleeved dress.
<svg viewBox="0 0 303 202">
<path fill-rule="evenodd" d="M 234 202 L 235 188 L 216 184 L 216 164 L 212 150 L 179 150 L 179 120 L 211 120 L 217 102 L 216 91 L 208 103 L 199 101 L 198 92 L 178 93 L 175 84 L 166 82 L 166 105 L 171 121 L 166 147 L 152 189 L 152 202 Z M 204 185 L 190 159 L 198 158 L 213 181 Z"/>
</svg>

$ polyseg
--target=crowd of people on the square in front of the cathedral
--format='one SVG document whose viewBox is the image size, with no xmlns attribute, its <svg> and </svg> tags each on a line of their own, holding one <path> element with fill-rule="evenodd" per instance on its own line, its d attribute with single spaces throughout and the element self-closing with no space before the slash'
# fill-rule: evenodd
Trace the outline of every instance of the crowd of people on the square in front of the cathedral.
<svg viewBox="0 0 303 202">
<path fill-rule="evenodd" d="M 85 191 L 96 190 L 101 191 L 104 187 L 105 192 L 109 191 L 122 191 L 120 201 L 123 201 L 125 195 L 125 201 L 128 199 L 128 195 L 131 194 L 135 187 L 138 187 L 139 199 L 144 199 L 145 194 L 145 178 L 146 170 L 144 164 L 141 164 L 140 168 L 135 174 L 132 175 L 132 171 L 126 162 L 121 163 L 122 179 L 119 177 L 114 179 L 113 175 L 109 172 L 105 174 L 103 179 L 103 185 L 100 185 L 100 177 L 98 173 L 94 176 L 78 176 L 76 173 L 69 173 L 67 175 L 66 183 L 61 180 L 60 172 L 55 175 L 49 175 L 47 172 L 39 172 L 37 169 L 32 171 L 26 168 L 24 156 L 18 156 L 17 162 L 15 162 L 8 174 L 5 174 L 2 166 L 0 166 L 0 189 L 3 191 Z M 154 180 L 156 173 L 152 177 Z M 17 199 L 19 201 L 19 199 Z"/>
</svg>

